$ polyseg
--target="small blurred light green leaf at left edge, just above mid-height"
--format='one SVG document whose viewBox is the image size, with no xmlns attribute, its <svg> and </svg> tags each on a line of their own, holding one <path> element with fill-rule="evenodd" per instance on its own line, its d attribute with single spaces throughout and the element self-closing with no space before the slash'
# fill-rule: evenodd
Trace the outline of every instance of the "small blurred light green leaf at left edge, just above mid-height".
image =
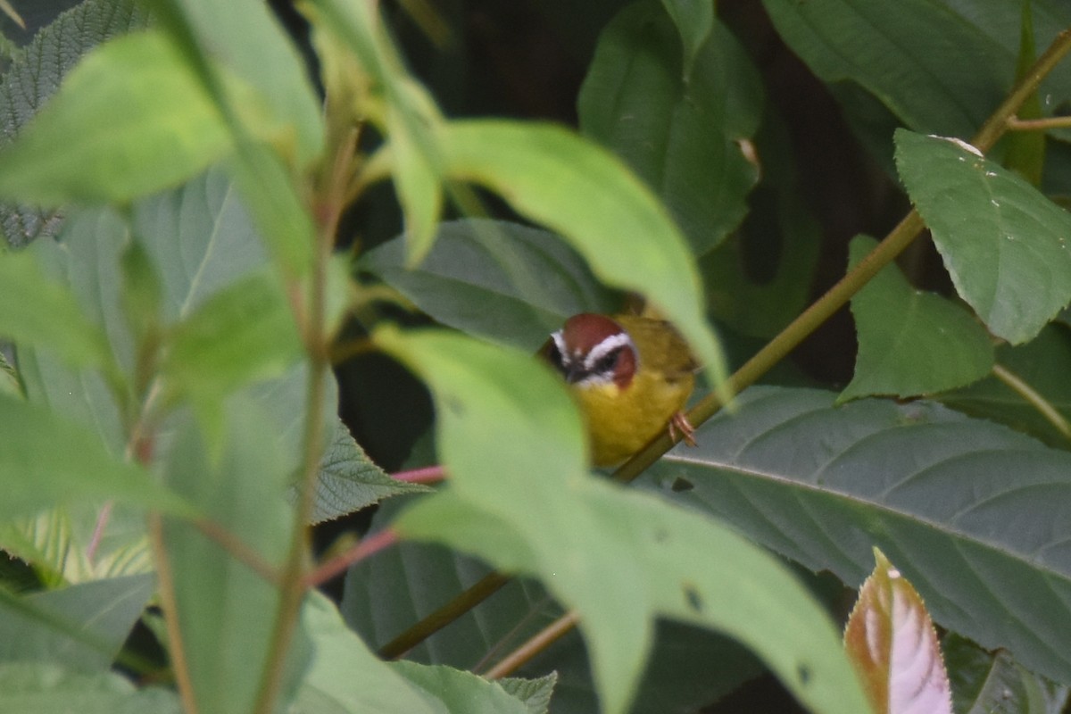
<svg viewBox="0 0 1071 714">
<path fill-rule="evenodd" d="M 31 252 L 0 254 L 0 336 L 48 350 L 73 367 L 110 367 L 101 329 L 65 286 L 45 277 Z"/>
</svg>

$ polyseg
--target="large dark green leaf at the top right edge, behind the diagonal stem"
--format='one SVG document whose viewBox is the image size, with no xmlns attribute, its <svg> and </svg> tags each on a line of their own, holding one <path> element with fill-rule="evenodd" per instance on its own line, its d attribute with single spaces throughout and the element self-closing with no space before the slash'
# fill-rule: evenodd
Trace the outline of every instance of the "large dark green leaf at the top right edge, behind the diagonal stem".
<svg viewBox="0 0 1071 714">
<path fill-rule="evenodd" d="M 920 132 L 969 138 L 1011 88 L 1020 45 L 1017 2 L 764 0 L 778 34 L 830 83 L 873 93 Z M 1034 0 L 1046 46 L 1071 22 L 1059 0 Z M 1064 96 L 1071 67 L 1042 92 Z M 1049 108 L 1052 111 L 1052 108 Z"/>
</svg>

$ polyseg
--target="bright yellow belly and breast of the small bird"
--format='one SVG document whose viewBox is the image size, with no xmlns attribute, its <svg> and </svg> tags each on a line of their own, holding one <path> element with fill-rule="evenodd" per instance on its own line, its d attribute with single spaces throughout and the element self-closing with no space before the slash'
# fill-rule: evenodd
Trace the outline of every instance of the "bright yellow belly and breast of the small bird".
<svg viewBox="0 0 1071 714">
<path fill-rule="evenodd" d="M 639 451 L 684 408 L 694 382 L 691 375 L 668 381 L 642 369 L 624 390 L 613 383 L 574 390 L 591 436 L 592 462 L 615 466 Z"/>
</svg>

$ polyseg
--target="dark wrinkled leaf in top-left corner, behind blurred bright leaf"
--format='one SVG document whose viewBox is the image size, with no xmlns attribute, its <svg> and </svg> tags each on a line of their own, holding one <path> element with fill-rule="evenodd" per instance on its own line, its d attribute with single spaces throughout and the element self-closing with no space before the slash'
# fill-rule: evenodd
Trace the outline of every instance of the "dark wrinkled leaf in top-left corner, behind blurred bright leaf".
<svg viewBox="0 0 1071 714">
<path fill-rule="evenodd" d="M 134 0 L 87 0 L 74 4 L 56 21 L 37 32 L 12 59 L 0 77 L 0 131 L 6 145 L 56 92 L 63 76 L 82 55 L 105 41 L 147 24 L 146 13 Z M 44 3 L 24 10 L 34 13 Z M 32 24 L 27 15 L 27 21 Z M 26 206 L 0 206 L 0 225 L 14 245 L 37 236 L 51 236 L 61 221 L 52 211 Z"/>
</svg>

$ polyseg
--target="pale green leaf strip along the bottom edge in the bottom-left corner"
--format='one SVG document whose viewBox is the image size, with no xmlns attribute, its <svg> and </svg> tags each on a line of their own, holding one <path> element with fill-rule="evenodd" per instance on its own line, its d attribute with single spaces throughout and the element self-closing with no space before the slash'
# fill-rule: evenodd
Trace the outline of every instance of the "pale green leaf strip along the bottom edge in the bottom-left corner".
<svg viewBox="0 0 1071 714">
<path fill-rule="evenodd" d="M 81 674 L 54 664 L 0 665 L 0 711 L 18 714 L 179 714 L 170 689 L 135 689 L 112 672 Z"/>
</svg>

